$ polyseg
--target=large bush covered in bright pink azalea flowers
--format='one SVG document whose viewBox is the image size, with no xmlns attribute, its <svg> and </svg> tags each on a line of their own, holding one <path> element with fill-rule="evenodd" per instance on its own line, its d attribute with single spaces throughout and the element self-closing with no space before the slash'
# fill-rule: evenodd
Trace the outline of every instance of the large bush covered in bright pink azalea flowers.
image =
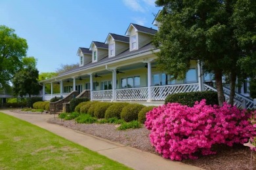
<svg viewBox="0 0 256 170">
<path fill-rule="evenodd" d="M 145 126 L 150 130 L 150 142 L 164 158 L 181 161 L 215 154 L 213 144 L 246 143 L 256 135 L 249 121 L 251 112 L 231 107 L 205 104 L 194 107 L 168 103 L 146 114 Z"/>
</svg>

